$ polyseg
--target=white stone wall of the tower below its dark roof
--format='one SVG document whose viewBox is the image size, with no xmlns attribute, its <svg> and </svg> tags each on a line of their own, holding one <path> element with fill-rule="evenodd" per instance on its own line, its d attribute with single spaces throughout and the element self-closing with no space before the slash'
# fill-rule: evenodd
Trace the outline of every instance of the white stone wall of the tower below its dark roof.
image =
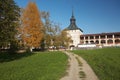
<svg viewBox="0 0 120 80">
<path fill-rule="evenodd" d="M 74 45 L 76 47 L 80 43 L 80 35 L 83 33 L 80 30 L 68 30 L 67 33 L 73 41 L 70 45 Z"/>
</svg>

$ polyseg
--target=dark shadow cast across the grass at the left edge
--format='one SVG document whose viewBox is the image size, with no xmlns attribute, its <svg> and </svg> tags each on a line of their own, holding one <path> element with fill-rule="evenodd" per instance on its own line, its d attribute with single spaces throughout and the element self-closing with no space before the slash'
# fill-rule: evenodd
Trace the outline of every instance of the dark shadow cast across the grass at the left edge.
<svg viewBox="0 0 120 80">
<path fill-rule="evenodd" d="M 0 52 L 0 63 L 10 62 L 13 60 L 21 59 L 23 57 L 31 56 L 33 54 L 34 53 L 30 53 L 30 52 L 16 53 L 16 54 L 10 54 L 8 52 Z"/>
</svg>

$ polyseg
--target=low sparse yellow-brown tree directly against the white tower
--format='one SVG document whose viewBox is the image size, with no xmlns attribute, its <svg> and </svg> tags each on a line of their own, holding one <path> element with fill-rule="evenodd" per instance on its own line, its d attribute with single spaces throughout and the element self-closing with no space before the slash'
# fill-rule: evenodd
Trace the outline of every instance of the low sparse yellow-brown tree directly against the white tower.
<svg viewBox="0 0 120 80">
<path fill-rule="evenodd" d="M 71 38 L 68 36 L 66 30 L 61 30 L 58 24 L 54 24 L 51 34 L 52 46 L 59 48 L 68 48 Z"/>
</svg>

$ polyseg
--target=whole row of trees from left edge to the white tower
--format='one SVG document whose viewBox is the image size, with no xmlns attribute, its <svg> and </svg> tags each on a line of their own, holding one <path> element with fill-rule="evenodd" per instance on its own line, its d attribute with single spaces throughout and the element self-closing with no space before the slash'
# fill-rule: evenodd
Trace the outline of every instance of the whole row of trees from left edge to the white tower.
<svg viewBox="0 0 120 80">
<path fill-rule="evenodd" d="M 18 49 L 67 48 L 70 37 L 49 16 L 49 12 L 40 12 L 35 2 L 20 8 L 14 0 L 0 0 L 0 49 L 15 52 Z"/>
</svg>

